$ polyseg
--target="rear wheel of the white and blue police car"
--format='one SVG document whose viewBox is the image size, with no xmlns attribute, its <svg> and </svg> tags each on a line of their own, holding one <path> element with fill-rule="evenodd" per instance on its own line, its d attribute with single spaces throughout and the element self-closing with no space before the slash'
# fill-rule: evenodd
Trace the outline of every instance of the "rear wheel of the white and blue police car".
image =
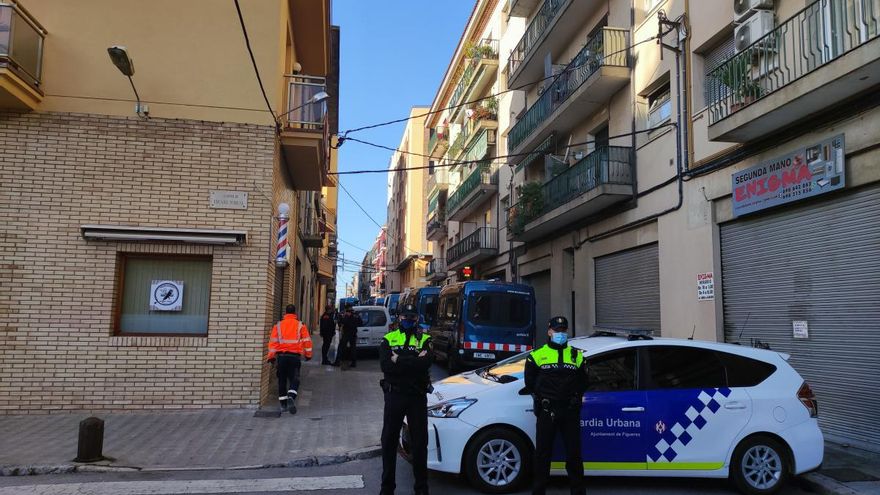
<svg viewBox="0 0 880 495">
<path fill-rule="evenodd" d="M 733 451 L 730 477 L 742 493 L 776 493 L 791 476 L 786 448 L 773 438 L 757 435 L 742 441 Z"/>
</svg>

